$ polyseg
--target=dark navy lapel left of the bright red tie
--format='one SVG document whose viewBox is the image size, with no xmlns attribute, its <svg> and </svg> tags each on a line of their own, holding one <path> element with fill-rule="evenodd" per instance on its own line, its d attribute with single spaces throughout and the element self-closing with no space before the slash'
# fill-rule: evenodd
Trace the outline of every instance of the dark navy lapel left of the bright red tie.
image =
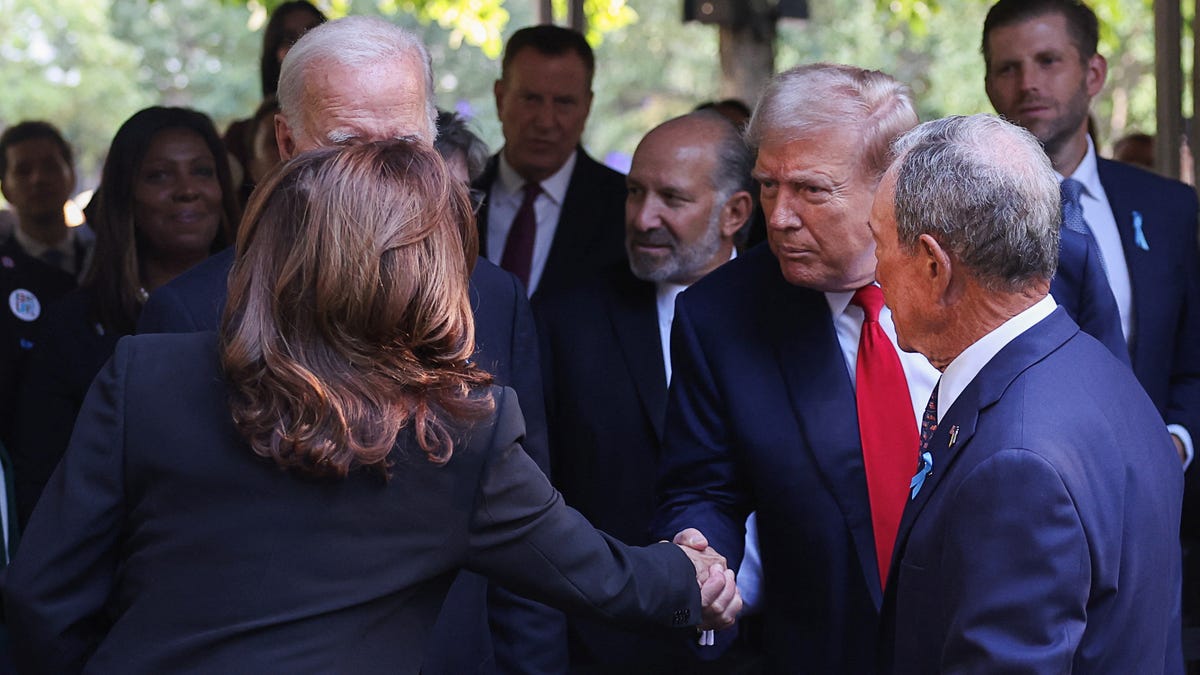
<svg viewBox="0 0 1200 675">
<path fill-rule="evenodd" d="M 772 325 L 764 325 L 763 330 L 774 339 L 805 452 L 812 454 L 841 508 L 860 572 L 875 605 L 880 607 L 882 592 L 854 390 L 829 304 L 822 293 L 791 286 L 781 275 L 776 276 L 774 292 L 779 298 L 764 304 L 772 307 L 767 319 Z"/>
</svg>

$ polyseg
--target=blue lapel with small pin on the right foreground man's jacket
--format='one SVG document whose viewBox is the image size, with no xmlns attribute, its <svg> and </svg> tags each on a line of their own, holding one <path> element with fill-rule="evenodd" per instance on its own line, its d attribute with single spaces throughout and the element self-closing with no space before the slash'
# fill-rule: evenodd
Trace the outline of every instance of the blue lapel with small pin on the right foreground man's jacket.
<svg viewBox="0 0 1200 675">
<path fill-rule="evenodd" d="M 991 407 L 1003 395 L 1016 377 L 1031 365 L 1042 360 L 1050 352 L 1079 333 L 1079 327 L 1058 307 L 1045 319 L 1037 323 L 1012 342 L 1004 346 L 976 375 L 974 380 L 962 390 L 950 410 L 942 416 L 937 431 L 929 442 L 929 452 L 934 456 L 934 470 L 925 477 L 917 496 L 905 504 L 896 544 L 892 554 L 892 567 L 904 556 L 908 544 L 912 525 L 920 516 L 930 498 L 937 492 L 942 479 L 952 471 L 955 460 L 971 444 L 974 437 L 979 414 Z M 950 438 L 954 443 L 950 443 Z"/>
</svg>

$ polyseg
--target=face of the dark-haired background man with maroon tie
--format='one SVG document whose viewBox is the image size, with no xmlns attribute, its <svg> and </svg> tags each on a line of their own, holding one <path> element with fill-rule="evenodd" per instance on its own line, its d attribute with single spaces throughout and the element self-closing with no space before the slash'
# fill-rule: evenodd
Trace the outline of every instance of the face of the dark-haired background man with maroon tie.
<svg viewBox="0 0 1200 675">
<path fill-rule="evenodd" d="M 574 52 L 517 52 L 493 85 L 504 159 L 526 180 L 554 174 L 580 144 L 592 110 L 588 71 Z"/>
</svg>

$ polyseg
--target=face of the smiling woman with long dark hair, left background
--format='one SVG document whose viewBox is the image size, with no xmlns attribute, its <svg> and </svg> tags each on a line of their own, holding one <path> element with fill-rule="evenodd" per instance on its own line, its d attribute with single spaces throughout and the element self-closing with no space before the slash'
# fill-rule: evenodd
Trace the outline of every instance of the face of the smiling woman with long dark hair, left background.
<svg viewBox="0 0 1200 675">
<path fill-rule="evenodd" d="M 198 133 L 155 135 L 133 177 L 133 223 L 148 289 L 208 257 L 221 227 L 221 197 L 216 161 Z"/>
</svg>

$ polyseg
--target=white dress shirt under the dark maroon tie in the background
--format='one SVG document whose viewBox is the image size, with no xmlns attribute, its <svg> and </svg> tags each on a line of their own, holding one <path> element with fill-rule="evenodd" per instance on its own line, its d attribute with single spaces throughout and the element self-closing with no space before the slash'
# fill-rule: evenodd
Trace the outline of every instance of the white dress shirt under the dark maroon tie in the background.
<svg viewBox="0 0 1200 675">
<path fill-rule="evenodd" d="M 571 184 L 576 157 L 577 154 L 571 153 L 566 163 L 540 184 L 541 195 L 538 195 L 534 202 L 538 232 L 533 243 L 533 258 L 529 262 L 529 285 L 526 288 L 529 295 L 538 289 L 541 273 L 546 269 L 550 246 L 554 243 L 554 232 L 558 231 L 558 217 L 563 213 L 563 199 L 566 198 L 566 189 Z M 496 181 L 492 183 L 492 191 L 487 195 L 487 259 L 497 265 L 504 257 L 504 244 L 509 240 L 512 219 L 524 201 L 524 184 L 526 179 L 509 165 L 502 149 Z"/>
</svg>

